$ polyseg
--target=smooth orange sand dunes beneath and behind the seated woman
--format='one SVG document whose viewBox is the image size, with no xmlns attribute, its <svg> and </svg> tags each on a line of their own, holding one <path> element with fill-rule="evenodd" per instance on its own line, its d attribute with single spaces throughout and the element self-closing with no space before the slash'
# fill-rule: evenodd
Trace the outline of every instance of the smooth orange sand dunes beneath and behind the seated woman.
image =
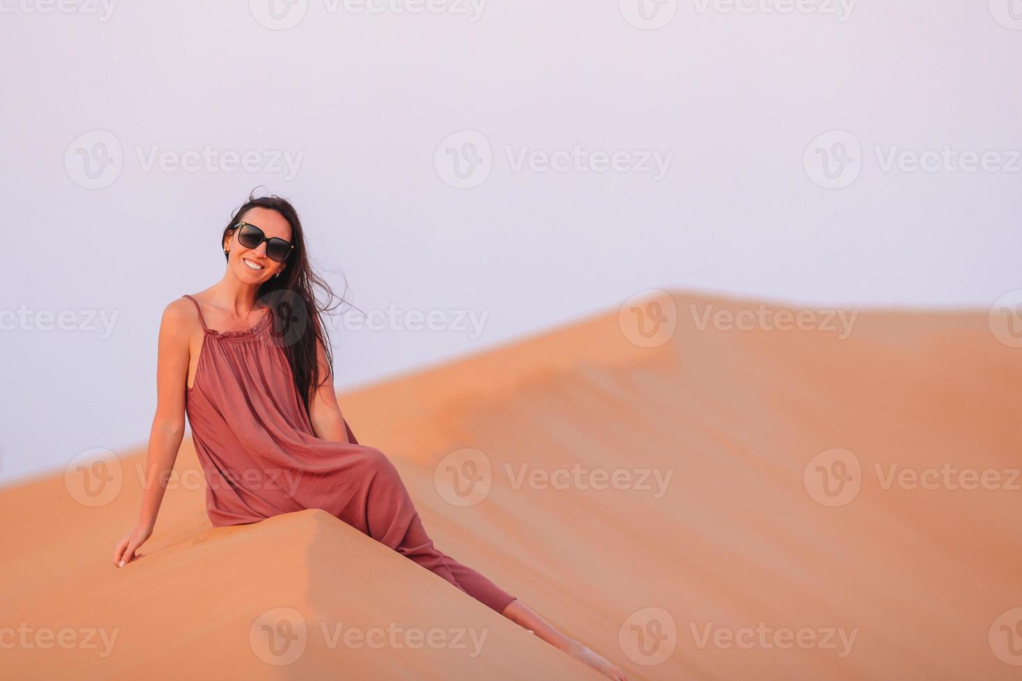
<svg viewBox="0 0 1022 681">
<path fill-rule="evenodd" d="M 633 679 L 1017 678 L 1022 350 L 783 309 L 673 293 L 340 403 L 437 546 Z M 142 455 L 0 491 L 5 677 L 602 678 L 324 512 L 211 528 L 189 441 L 119 570 Z"/>
</svg>

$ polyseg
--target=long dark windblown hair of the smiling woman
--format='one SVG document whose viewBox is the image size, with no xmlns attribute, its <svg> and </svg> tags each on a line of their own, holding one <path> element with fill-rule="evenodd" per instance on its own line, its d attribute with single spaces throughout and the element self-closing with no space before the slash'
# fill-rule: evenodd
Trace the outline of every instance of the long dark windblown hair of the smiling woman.
<svg viewBox="0 0 1022 681">
<path fill-rule="evenodd" d="M 267 304 L 273 312 L 274 342 L 283 347 L 287 354 L 294 385 L 301 397 L 306 412 L 309 414 L 310 397 L 326 379 L 326 376 L 320 376 L 317 342 L 323 343 L 331 371 L 333 367 L 330 338 L 320 314 L 336 307 L 335 304 L 330 304 L 334 298 L 338 299 L 337 304 L 346 301 L 334 294 L 330 285 L 313 271 L 306 249 L 301 221 L 298 220 L 297 210 L 287 199 L 276 195 L 257 197 L 253 191 L 248 195 L 248 200 L 234 211 L 231 221 L 224 228 L 220 238 L 221 248 L 238 221 L 246 211 L 257 207 L 276 210 L 291 226 L 291 243 L 294 245 L 294 250 L 286 260 L 287 266 L 279 277 L 271 277 L 260 286 L 257 298 Z M 225 253 L 225 257 L 229 256 Z M 325 304 L 320 304 L 315 288 L 323 292 Z M 347 290 L 346 280 L 344 290 L 345 292 Z"/>
</svg>

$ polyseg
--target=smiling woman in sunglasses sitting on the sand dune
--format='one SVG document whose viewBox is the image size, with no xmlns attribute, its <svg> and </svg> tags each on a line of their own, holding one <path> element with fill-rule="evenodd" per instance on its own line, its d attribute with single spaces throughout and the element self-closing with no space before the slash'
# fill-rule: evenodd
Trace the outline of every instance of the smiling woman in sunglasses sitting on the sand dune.
<svg viewBox="0 0 1022 681">
<path fill-rule="evenodd" d="M 152 534 L 187 414 L 215 526 L 323 508 L 623 681 L 618 667 L 433 546 L 397 469 L 379 449 L 359 444 L 337 404 L 313 296 L 313 285 L 330 289 L 309 264 L 291 204 L 249 196 L 221 244 L 223 279 L 164 310 L 147 482 L 139 522 L 115 546 L 114 565 L 142 555 L 136 550 Z"/>
</svg>

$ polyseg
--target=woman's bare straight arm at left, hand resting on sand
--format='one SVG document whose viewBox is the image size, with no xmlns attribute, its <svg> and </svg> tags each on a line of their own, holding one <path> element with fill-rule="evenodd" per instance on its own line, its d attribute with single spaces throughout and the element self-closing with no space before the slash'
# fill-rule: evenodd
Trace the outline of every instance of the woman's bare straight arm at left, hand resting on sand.
<svg viewBox="0 0 1022 681">
<path fill-rule="evenodd" d="M 142 555 L 135 550 L 149 538 L 164 499 L 167 481 L 174 471 L 185 432 L 185 387 L 188 380 L 190 305 L 179 298 L 164 309 L 159 322 L 156 356 L 156 412 L 149 431 L 145 459 L 145 485 L 138 523 L 118 542 L 113 563 L 124 567 Z"/>
</svg>

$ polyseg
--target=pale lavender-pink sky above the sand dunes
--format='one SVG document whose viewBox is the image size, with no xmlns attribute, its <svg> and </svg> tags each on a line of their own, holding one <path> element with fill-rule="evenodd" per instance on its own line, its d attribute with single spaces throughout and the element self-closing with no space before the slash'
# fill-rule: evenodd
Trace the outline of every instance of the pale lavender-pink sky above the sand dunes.
<svg viewBox="0 0 1022 681">
<path fill-rule="evenodd" d="M 259 185 L 360 308 L 452 320 L 338 328 L 341 390 L 651 288 L 1022 288 L 1009 0 L 639 2 L 0 1 L 0 482 L 145 444 L 160 312 Z"/>
</svg>

